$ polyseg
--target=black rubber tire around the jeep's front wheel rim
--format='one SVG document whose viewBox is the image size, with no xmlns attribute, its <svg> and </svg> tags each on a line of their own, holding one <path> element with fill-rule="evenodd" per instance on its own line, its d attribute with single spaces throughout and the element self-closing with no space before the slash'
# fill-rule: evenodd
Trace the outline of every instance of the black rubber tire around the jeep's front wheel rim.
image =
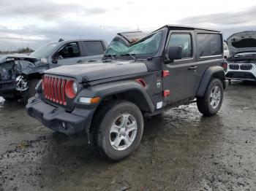
<svg viewBox="0 0 256 191">
<path fill-rule="evenodd" d="M 132 144 L 124 150 L 116 150 L 110 144 L 110 128 L 121 114 L 132 114 L 138 125 Z M 118 161 L 128 157 L 138 148 L 143 135 L 143 115 L 135 104 L 129 101 L 110 101 L 97 109 L 92 121 L 92 144 L 97 153 L 109 160 Z"/>
</svg>

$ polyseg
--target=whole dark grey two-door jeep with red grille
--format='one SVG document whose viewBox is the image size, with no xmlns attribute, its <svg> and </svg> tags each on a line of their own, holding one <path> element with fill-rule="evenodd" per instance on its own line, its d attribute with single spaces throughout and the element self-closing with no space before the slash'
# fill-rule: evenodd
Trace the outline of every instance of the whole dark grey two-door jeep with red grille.
<svg viewBox="0 0 256 191">
<path fill-rule="evenodd" d="M 140 144 L 143 117 L 195 101 L 202 114 L 219 111 L 219 31 L 164 26 L 114 50 L 99 63 L 48 70 L 26 105 L 29 115 L 62 133 L 86 132 L 100 154 L 121 160 Z"/>
</svg>

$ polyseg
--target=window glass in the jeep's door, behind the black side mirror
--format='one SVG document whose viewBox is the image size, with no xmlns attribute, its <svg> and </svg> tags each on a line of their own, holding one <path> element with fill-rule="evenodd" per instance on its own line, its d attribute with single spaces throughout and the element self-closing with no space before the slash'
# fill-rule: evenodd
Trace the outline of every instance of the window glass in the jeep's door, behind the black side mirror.
<svg viewBox="0 0 256 191">
<path fill-rule="evenodd" d="M 182 47 L 182 58 L 192 57 L 192 39 L 190 34 L 171 34 L 169 47 Z"/>
</svg>

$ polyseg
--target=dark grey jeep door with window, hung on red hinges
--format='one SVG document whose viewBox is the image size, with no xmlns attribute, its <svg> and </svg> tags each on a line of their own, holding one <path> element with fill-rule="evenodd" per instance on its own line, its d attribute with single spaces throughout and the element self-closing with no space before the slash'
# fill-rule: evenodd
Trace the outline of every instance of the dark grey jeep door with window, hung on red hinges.
<svg viewBox="0 0 256 191">
<path fill-rule="evenodd" d="M 179 60 L 163 63 L 163 71 L 169 72 L 167 77 L 163 77 L 163 88 L 164 91 L 170 91 L 170 95 L 165 98 L 165 104 L 192 98 L 197 82 L 193 31 L 171 31 L 165 49 L 168 50 L 169 47 L 182 47 L 182 54 Z"/>
</svg>

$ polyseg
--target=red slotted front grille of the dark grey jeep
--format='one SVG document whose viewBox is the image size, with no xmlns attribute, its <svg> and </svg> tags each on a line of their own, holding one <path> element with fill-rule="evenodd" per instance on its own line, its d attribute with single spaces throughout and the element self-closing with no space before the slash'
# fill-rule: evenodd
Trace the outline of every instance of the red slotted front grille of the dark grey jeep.
<svg viewBox="0 0 256 191">
<path fill-rule="evenodd" d="M 65 86 L 67 79 L 45 75 L 42 79 L 44 97 L 56 104 L 66 106 Z"/>
</svg>

